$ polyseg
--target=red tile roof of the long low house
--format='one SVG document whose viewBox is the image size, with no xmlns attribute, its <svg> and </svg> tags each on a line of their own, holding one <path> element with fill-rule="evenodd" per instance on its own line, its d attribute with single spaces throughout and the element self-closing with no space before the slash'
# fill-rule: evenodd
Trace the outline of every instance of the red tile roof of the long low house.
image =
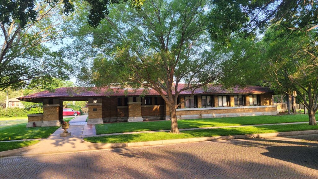
<svg viewBox="0 0 318 179">
<path fill-rule="evenodd" d="M 184 84 L 179 84 L 178 89 L 183 88 Z M 147 91 L 147 93 L 143 93 Z M 204 92 L 203 89 L 196 89 L 195 94 L 259 94 L 259 93 L 273 93 L 272 90 L 260 86 L 247 86 L 244 88 L 221 89 L 221 87 L 211 87 Z M 55 89 L 54 92 L 42 91 L 18 98 L 19 100 L 36 99 L 36 98 L 54 98 L 54 97 L 105 97 L 105 96 L 139 96 L 145 94 L 147 96 L 159 95 L 154 89 L 119 89 L 119 88 L 79 88 L 66 87 Z M 191 94 L 190 90 L 182 91 L 181 95 Z"/>
</svg>

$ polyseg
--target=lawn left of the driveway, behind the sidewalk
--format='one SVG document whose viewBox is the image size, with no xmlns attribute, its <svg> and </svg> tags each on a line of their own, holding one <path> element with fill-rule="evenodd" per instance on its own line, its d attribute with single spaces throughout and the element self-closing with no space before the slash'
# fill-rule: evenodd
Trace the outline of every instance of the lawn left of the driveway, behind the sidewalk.
<svg viewBox="0 0 318 179">
<path fill-rule="evenodd" d="M 26 123 L 0 126 L 0 141 L 20 139 L 41 139 L 49 137 L 59 126 L 26 127 Z"/>
</svg>

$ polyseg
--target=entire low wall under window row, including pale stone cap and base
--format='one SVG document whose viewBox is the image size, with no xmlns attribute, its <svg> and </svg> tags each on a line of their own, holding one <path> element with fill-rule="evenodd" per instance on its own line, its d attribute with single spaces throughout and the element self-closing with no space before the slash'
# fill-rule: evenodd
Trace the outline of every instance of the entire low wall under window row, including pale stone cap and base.
<svg viewBox="0 0 318 179">
<path fill-rule="evenodd" d="M 177 109 L 178 119 L 276 115 L 275 105 Z"/>
</svg>

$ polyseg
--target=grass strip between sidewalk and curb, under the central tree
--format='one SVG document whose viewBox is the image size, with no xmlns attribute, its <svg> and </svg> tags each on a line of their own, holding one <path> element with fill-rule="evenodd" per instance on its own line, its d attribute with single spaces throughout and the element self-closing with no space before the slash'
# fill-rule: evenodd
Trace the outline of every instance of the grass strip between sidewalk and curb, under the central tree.
<svg viewBox="0 0 318 179">
<path fill-rule="evenodd" d="M 84 140 L 88 142 L 94 142 L 94 143 L 128 143 L 128 142 L 144 142 L 144 141 L 154 141 L 154 140 L 186 139 L 186 138 L 196 138 L 196 137 L 260 134 L 260 133 L 287 132 L 287 131 L 305 131 L 305 130 L 315 130 L 315 129 L 318 129 L 317 125 L 308 125 L 308 124 L 263 125 L 263 126 L 246 126 L 246 127 L 181 131 L 182 134 L 171 134 L 169 132 L 154 132 L 154 133 L 112 135 L 112 136 L 102 136 L 102 137 L 88 137 L 88 138 L 84 138 Z"/>
</svg>

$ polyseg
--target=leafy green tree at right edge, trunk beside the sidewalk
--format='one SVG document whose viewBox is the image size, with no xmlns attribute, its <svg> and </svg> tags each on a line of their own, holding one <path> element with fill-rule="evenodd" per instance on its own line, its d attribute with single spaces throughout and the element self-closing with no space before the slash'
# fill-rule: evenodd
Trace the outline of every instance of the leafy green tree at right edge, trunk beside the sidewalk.
<svg viewBox="0 0 318 179">
<path fill-rule="evenodd" d="M 317 44 L 311 42 L 317 39 L 317 30 L 302 32 L 278 27 L 279 24 L 269 28 L 260 42 L 262 75 L 272 88 L 304 104 L 309 125 L 316 125 L 318 49 Z"/>
</svg>

